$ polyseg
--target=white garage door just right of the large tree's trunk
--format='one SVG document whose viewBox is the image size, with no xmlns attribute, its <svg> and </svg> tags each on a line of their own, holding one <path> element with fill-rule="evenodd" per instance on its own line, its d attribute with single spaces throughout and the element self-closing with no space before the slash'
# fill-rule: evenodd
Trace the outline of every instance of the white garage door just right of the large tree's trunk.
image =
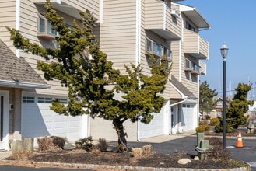
<svg viewBox="0 0 256 171">
<path fill-rule="evenodd" d="M 163 112 L 154 114 L 153 120 L 149 124 L 139 123 L 139 137 L 150 138 L 164 134 Z"/>
</svg>

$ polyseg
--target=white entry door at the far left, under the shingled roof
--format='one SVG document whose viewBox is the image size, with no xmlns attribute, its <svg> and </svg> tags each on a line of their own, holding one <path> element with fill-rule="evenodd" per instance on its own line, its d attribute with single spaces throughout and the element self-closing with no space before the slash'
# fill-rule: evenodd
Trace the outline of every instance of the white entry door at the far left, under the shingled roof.
<svg viewBox="0 0 256 171">
<path fill-rule="evenodd" d="M 0 90 L 0 149 L 8 150 L 9 92 Z"/>
</svg>

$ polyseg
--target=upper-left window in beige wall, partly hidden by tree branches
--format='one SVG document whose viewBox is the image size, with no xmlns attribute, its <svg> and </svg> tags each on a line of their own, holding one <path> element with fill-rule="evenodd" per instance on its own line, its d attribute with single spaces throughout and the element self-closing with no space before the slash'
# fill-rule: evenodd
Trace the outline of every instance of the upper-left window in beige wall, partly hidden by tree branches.
<svg viewBox="0 0 256 171">
<path fill-rule="evenodd" d="M 37 37 L 53 40 L 57 35 L 57 31 L 51 29 L 51 23 L 43 15 L 38 14 Z"/>
</svg>

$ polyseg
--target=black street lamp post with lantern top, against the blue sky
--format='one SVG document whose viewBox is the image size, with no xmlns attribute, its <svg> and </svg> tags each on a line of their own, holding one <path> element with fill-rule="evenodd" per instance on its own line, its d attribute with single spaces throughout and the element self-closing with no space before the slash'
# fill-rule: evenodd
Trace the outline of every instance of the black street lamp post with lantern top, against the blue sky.
<svg viewBox="0 0 256 171">
<path fill-rule="evenodd" d="M 229 48 L 226 44 L 220 48 L 223 57 L 223 148 L 226 148 L 226 56 Z"/>
</svg>

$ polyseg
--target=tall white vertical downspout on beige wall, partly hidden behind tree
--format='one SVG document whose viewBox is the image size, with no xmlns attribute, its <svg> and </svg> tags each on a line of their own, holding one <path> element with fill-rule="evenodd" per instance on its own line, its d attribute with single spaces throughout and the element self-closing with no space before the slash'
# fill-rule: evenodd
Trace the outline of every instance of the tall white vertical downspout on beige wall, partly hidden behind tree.
<svg viewBox="0 0 256 171">
<path fill-rule="evenodd" d="M 141 62 L 141 47 L 142 47 L 142 2 L 136 0 L 136 46 L 135 46 L 135 66 Z M 139 78 L 138 78 L 139 79 Z M 137 121 L 137 141 L 139 138 L 139 120 Z"/>
</svg>

